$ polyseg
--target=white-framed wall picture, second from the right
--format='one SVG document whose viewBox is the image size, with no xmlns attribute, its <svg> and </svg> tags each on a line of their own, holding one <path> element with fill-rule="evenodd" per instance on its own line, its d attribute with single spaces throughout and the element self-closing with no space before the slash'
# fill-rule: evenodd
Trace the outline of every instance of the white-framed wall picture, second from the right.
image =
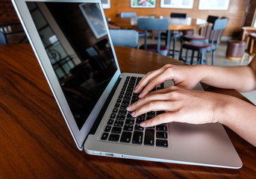
<svg viewBox="0 0 256 179">
<path fill-rule="evenodd" d="M 194 3 L 193 0 L 161 0 L 160 7 L 193 9 L 193 3 Z"/>
</svg>

